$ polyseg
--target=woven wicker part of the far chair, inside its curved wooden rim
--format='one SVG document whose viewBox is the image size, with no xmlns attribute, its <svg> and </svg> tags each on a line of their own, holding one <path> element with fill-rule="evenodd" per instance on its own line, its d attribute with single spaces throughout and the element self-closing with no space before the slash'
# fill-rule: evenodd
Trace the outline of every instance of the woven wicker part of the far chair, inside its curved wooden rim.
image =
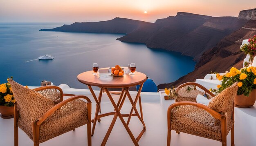
<svg viewBox="0 0 256 146">
<path fill-rule="evenodd" d="M 204 92 L 199 90 L 194 90 L 194 89 L 188 92 L 187 91 L 188 86 L 190 85 L 184 86 L 178 90 L 177 102 L 183 102 L 183 101 L 196 102 L 197 95 L 204 95 Z M 193 86 L 191 88 L 193 88 Z M 212 98 L 211 95 L 209 95 L 209 99 L 210 98 Z"/>
</svg>

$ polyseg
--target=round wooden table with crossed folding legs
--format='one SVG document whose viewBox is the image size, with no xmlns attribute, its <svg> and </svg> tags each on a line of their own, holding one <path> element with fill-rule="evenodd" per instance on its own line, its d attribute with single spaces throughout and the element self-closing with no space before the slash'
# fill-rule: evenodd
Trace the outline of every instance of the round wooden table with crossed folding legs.
<svg viewBox="0 0 256 146">
<path fill-rule="evenodd" d="M 135 146 L 139 146 L 138 141 L 141 138 L 141 136 L 143 135 L 143 133 L 146 131 L 146 126 L 143 121 L 143 113 L 142 113 L 141 97 L 140 97 L 142 86 L 143 86 L 144 82 L 146 81 L 146 75 L 144 73 L 140 73 L 140 72 L 136 71 L 135 75 L 128 75 L 127 73 L 125 73 L 123 76 L 119 77 L 119 76 L 113 76 L 110 74 L 109 75 L 107 75 L 107 74 L 93 75 L 93 71 L 86 71 L 84 73 L 80 73 L 77 76 L 77 79 L 79 80 L 79 82 L 86 84 L 88 86 L 88 88 L 90 89 L 90 92 L 92 93 L 92 96 L 94 97 L 94 100 L 96 102 L 96 112 L 95 112 L 94 119 L 92 119 L 92 122 L 93 122 L 92 135 L 94 134 L 94 129 L 95 129 L 95 126 L 97 123 L 96 120 L 98 120 L 98 122 L 100 122 L 101 117 L 105 117 L 108 115 L 114 115 L 114 118 L 110 124 L 110 127 L 108 128 L 108 132 L 106 133 L 106 135 L 103 139 L 103 142 L 101 143 L 101 146 L 106 145 L 106 142 L 108 140 L 108 137 L 109 137 L 113 127 L 114 127 L 117 117 L 120 118 L 122 124 L 126 128 L 126 131 L 130 135 L 132 142 L 135 144 Z M 140 85 L 140 87 L 139 87 L 138 93 L 135 97 L 135 100 L 133 101 L 132 97 L 129 93 L 129 88 L 131 86 L 136 86 L 136 85 Z M 96 97 L 91 86 L 98 86 L 99 88 L 101 88 L 98 98 Z M 121 95 L 119 97 L 117 104 L 113 100 L 110 91 L 108 91 L 108 88 L 122 88 Z M 112 105 L 115 108 L 115 112 L 104 113 L 104 114 L 99 115 L 100 106 L 101 106 L 101 96 L 102 96 L 103 91 L 105 91 L 107 93 L 107 95 L 110 99 L 110 102 L 112 103 Z M 120 110 L 124 104 L 126 96 L 130 100 L 130 103 L 132 104 L 132 108 L 131 108 L 131 111 L 129 114 L 121 114 Z M 140 114 L 136 108 L 136 103 L 138 100 L 139 100 Z M 133 111 L 135 111 L 135 113 L 133 113 Z M 130 128 L 128 127 L 132 116 L 137 116 L 139 118 L 139 120 L 141 121 L 141 123 L 143 124 L 143 129 L 136 139 L 133 136 L 132 132 L 130 131 Z M 128 117 L 127 122 L 124 121 L 123 117 Z"/>
</svg>

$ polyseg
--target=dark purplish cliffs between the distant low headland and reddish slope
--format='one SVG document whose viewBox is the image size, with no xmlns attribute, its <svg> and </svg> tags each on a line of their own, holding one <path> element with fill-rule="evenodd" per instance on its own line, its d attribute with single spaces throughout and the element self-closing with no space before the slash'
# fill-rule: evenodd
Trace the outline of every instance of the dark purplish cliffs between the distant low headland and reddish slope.
<svg viewBox="0 0 256 146">
<path fill-rule="evenodd" d="M 159 19 L 156 25 L 139 28 L 118 38 L 138 42 L 152 49 L 180 52 L 199 61 L 202 53 L 216 46 L 226 35 L 240 29 L 248 20 L 236 17 L 211 17 L 178 12 L 175 17 Z"/>
</svg>

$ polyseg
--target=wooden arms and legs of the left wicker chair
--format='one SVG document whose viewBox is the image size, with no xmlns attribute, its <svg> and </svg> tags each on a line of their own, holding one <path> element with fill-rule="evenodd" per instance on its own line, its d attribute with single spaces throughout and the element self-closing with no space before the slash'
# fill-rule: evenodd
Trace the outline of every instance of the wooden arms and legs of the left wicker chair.
<svg viewBox="0 0 256 146">
<path fill-rule="evenodd" d="M 92 115 L 92 102 L 90 99 L 83 95 L 73 95 L 73 94 L 63 94 L 63 91 L 58 86 L 42 86 L 39 88 L 35 88 L 34 91 L 41 91 L 45 89 L 52 89 L 55 88 L 61 93 L 60 103 L 56 104 L 52 108 L 50 108 L 47 112 L 45 112 L 41 117 L 39 117 L 35 122 L 32 122 L 32 131 L 33 131 L 33 141 L 34 146 L 39 146 L 39 128 L 40 125 L 50 116 L 52 115 L 58 108 L 61 108 L 68 102 L 71 102 L 76 99 L 85 99 L 87 100 L 87 108 L 88 108 L 88 123 L 87 123 L 87 138 L 88 138 L 88 146 L 92 145 L 92 137 L 91 137 L 91 115 Z M 72 96 L 67 100 L 63 101 L 64 96 Z M 14 104 L 14 146 L 18 146 L 18 118 L 19 118 L 19 111 L 17 110 L 17 103 Z"/>
</svg>

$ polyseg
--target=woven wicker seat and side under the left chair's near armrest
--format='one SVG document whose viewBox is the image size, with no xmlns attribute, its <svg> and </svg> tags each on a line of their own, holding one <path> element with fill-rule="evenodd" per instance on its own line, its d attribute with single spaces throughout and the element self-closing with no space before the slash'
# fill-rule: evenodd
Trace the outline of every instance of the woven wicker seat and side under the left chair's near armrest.
<svg viewBox="0 0 256 146">
<path fill-rule="evenodd" d="M 87 124 L 87 115 L 88 110 L 86 102 L 74 100 L 67 103 L 41 124 L 39 142 L 45 142 Z"/>
</svg>

